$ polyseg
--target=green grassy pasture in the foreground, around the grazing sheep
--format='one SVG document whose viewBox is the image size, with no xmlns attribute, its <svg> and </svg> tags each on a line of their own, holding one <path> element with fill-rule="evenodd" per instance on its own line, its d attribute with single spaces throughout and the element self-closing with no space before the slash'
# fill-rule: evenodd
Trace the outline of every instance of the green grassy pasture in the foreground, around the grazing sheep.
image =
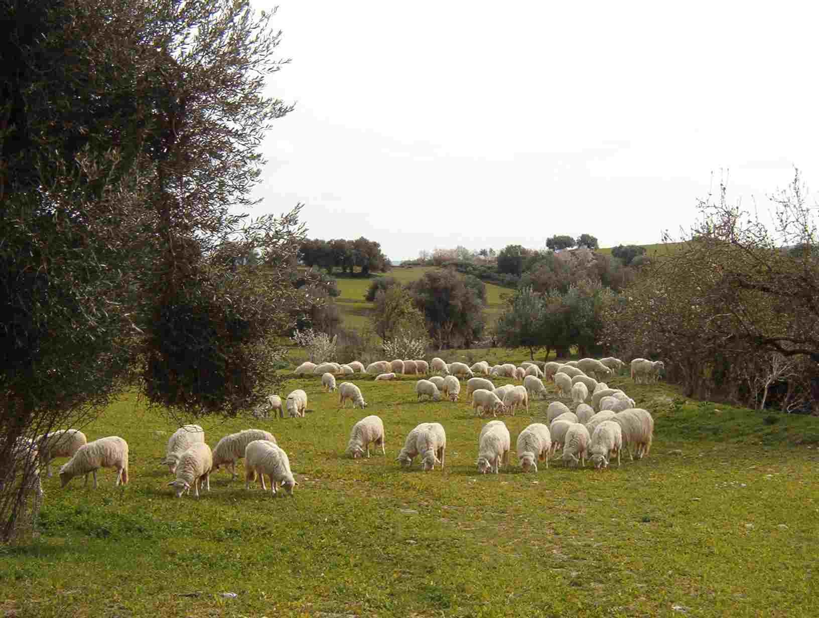
<svg viewBox="0 0 819 618">
<path fill-rule="evenodd" d="M 174 498 L 160 461 L 175 426 L 123 397 L 84 431 L 128 440 L 131 482 L 115 488 L 111 470 L 97 490 L 45 480 L 41 534 L 0 548 L 4 616 L 819 615 L 819 418 L 615 378 L 654 413 L 647 458 L 481 476 L 486 420 L 464 392 L 418 403 L 414 377 L 355 381 L 364 411 L 337 409 L 315 377 L 286 386 L 308 393 L 305 418 L 201 422 L 211 445 L 272 431 L 299 482 L 292 498 L 224 471 L 199 500 Z M 504 418 L 513 450 L 547 403 Z M 383 419 L 387 456 L 344 458 L 368 413 Z M 446 427 L 446 469 L 400 469 L 406 433 L 433 420 Z"/>
</svg>

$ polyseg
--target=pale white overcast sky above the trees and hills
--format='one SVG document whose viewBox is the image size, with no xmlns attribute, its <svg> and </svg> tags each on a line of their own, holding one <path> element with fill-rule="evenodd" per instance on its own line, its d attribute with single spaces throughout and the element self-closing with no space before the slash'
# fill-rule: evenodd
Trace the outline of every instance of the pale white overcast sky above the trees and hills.
<svg viewBox="0 0 819 618">
<path fill-rule="evenodd" d="M 419 250 L 658 242 L 727 174 L 816 196 L 812 2 L 279 0 L 264 202 L 309 236 Z"/>
</svg>

